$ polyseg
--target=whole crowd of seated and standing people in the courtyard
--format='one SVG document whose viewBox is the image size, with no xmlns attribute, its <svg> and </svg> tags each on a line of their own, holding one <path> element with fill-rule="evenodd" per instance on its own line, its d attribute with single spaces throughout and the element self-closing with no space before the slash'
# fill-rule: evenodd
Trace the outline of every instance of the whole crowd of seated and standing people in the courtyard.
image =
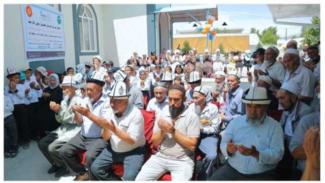
<svg viewBox="0 0 325 183">
<path fill-rule="evenodd" d="M 198 152 L 198 180 L 319 180 L 319 60 L 317 46 L 299 53 L 291 40 L 283 58 L 273 46 L 245 56 L 205 50 L 203 59 L 196 49 L 164 49 L 149 58 L 134 52 L 120 68 L 100 56 L 63 74 L 9 67 L 5 158 L 34 140 L 48 173 L 75 173 L 74 180 L 157 180 L 168 172 L 191 180 Z M 146 161 L 141 110 L 155 111 L 151 141 L 159 147 Z M 123 163 L 121 178 L 114 163 Z"/>
</svg>

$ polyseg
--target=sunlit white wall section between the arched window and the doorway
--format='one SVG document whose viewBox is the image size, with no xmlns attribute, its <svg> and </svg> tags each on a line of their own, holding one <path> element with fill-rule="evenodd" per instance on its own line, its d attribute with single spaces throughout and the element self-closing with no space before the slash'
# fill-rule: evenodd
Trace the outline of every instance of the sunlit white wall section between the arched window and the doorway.
<svg viewBox="0 0 325 183">
<path fill-rule="evenodd" d="M 104 9 L 105 58 L 118 67 L 134 51 L 147 54 L 146 5 L 105 5 Z"/>
</svg>

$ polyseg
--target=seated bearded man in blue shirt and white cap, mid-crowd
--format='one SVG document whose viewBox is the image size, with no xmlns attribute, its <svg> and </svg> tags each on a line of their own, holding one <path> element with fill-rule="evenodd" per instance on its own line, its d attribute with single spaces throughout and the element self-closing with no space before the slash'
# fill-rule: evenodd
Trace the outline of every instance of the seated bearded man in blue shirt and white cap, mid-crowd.
<svg viewBox="0 0 325 183">
<path fill-rule="evenodd" d="M 241 100 L 244 90 L 239 87 L 240 77 L 241 73 L 238 71 L 231 71 L 227 77 L 228 92 L 225 97 L 225 110 L 224 113 L 220 113 L 224 127 L 234 118 L 245 114 L 244 104 Z"/>
</svg>

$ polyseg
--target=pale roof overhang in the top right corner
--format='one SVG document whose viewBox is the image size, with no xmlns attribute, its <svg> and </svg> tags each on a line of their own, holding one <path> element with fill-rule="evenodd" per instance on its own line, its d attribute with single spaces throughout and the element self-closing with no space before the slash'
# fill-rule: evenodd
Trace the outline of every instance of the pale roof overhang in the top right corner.
<svg viewBox="0 0 325 183">
<path fill-rule="evenodd" d="M 272 4 L 268 5 L 271 11 L 273 22 L 275 24 L 282 25 L 294 25 L 294 26 L 305 26 L 305 27 L 316 27 L 319 28 L 319 24 L 312 23 L 300 23 L 300 22 L 287 22 L 278 21 L 277 19 L 288 19 L 288 18 L 302 18 L 302 17 L 320 17 L 320 5 L 319 4 Z"/>
</svg>

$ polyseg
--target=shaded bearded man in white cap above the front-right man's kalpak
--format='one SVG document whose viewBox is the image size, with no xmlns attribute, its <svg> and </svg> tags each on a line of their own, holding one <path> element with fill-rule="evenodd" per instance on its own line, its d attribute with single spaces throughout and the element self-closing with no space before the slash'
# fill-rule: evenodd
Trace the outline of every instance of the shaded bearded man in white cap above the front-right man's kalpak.
<svg viewBox="0 0 325 183">
<path fill-rule="evenodd" d="M 265 51 L 265 60 L 261 68 L 257 71 L 259 75 L 267 75 L 272 79 L 271 91 L 279 89 L 285 75 L 285 69 L 282 64 L 276 61 L 279 50 L 276 47 L 269 47 Z"/>
</svg>

